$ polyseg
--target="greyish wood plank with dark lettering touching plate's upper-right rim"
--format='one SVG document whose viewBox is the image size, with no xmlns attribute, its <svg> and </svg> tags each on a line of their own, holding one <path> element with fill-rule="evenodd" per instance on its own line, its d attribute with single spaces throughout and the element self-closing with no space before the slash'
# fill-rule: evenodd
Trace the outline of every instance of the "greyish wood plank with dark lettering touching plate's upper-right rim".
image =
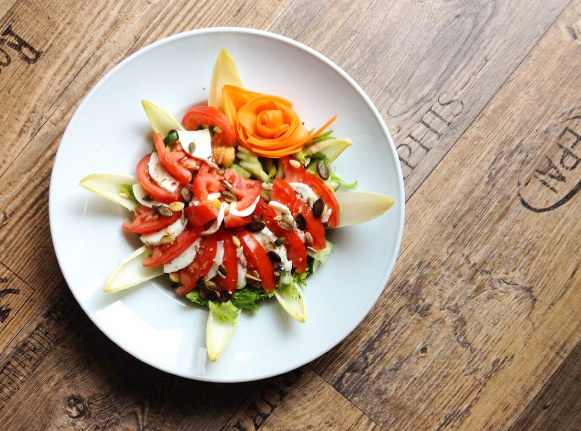
<svg viewBox="0 0 581 431">
<path fill-rule="evenodd" d="M 329 19 L 297 0 L 272 30 L 328 56 L 367 92 L 411 196 L 568 2 L 340 0 Z"/>
</svg>

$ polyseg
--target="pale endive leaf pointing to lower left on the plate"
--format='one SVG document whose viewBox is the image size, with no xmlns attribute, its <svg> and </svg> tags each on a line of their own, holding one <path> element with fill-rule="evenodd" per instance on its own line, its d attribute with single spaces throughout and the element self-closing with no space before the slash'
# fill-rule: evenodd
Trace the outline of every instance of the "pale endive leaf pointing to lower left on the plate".
<svg viewBox="0 0 581 431">
<path fill-rule="evenodd" d="M 143 260 L 147 253 L 147 247 L 143 246 L 125 257 L 109 275 L 103 290 L 119 292 L 119 290 L 131 288 L 131 286 L 162 275 L 163 267 L 144 267 Z"/>
</svg>

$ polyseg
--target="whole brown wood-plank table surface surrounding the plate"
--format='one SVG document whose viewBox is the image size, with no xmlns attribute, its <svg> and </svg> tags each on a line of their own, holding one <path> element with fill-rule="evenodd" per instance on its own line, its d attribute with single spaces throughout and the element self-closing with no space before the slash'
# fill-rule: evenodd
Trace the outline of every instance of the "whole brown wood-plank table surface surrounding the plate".
<svg viewBox="0 0 581 431">
<path fill-rule="evenodd" d="M 581 429 L 581 0 L 3 0 L 0 17 L 0 429 Z M 213 26 L 285 35 L 349 73 L 407 198 L 399 260 L 357 329 L 229 385 L 99 332 L 48 224 L 89 89 L 142 46 Z"/>
</svg>

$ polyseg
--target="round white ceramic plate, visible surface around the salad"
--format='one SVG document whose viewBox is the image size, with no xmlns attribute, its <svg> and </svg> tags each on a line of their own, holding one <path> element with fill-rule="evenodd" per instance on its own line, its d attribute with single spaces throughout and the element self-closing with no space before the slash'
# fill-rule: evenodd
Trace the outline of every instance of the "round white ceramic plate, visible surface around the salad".
<svg viewBox="0 0 581 431">
<path fill-rule="evenodd" d="M 360 191 L 395 200 L 388 213 L 336 229 L 335 252 L 303 289 L 309 318 L 292 320 L 277 301 L 242 313 L 217 362 L 206 360 L 207 311 L 175 296 L 163 279 L 104 293 L 114 267 L 141 244 L 125 234 L 129 211 L 78 186 L 92 173 L 135 174 L 152 147 L 141 107 L 148 99 L 181 118 L 207 100 L 221 48 L 235 59 L 246 88 L 291 100 L 307 129 L 333 114 L 334 135 L 354 145 L 335 162 Z M 83 310 L 113 342 L 153 367 L 187 378 L 240 382 L 277 375 L 327 352 L 367 315 L 388 282 L 403 233 L 404 189 L 385 123 L 363 90 L 338 66 L 298 42 L 264 31 L 207 28 L 177 34 L 134 53 L 89 92 L 56 154 L 49 195 L 60 268 Z M 106 351 L 103 355 L 107 355 Z"/>
</svg>

